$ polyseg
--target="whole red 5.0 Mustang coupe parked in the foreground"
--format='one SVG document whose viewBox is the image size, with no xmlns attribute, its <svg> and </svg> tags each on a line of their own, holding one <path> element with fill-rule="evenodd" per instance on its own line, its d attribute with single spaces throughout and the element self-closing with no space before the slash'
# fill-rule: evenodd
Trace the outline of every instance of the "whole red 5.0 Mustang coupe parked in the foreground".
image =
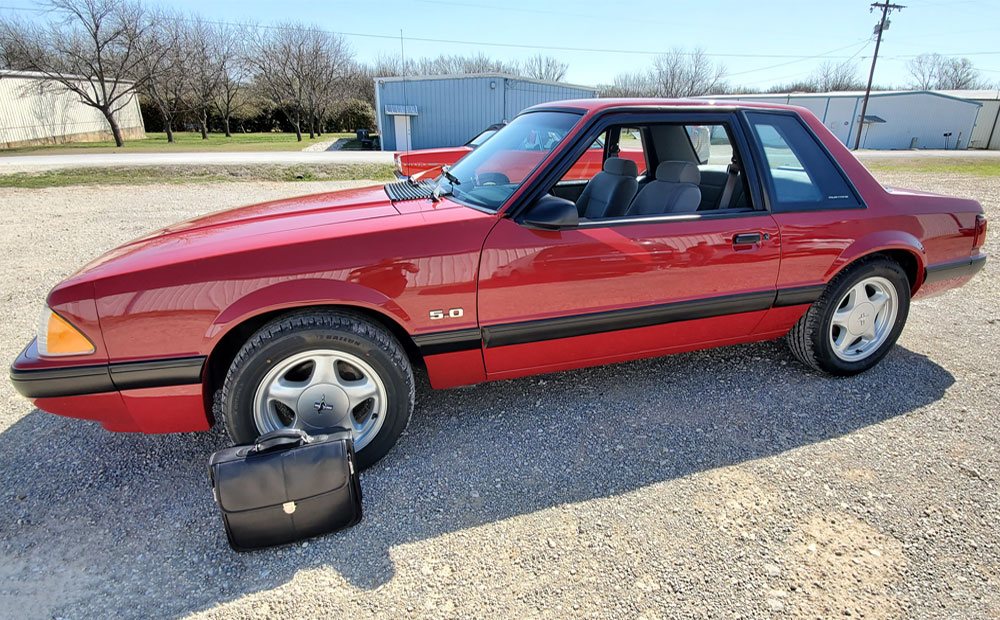
<svg viewBox="0 0 1000 620">
<path fill-rule="evenodd" d="M 602 170 L 576 178 L 598 140 Z M 563 101 L 436 183 L 105 254 L 52 290 L 11 378 L 116 431 L 346 426 L 369 465 L 413 410 L 414 365 L 447 388 L 787 335 L 810 368 L 864 371 L 911 299 L 983 266 L 985 232 L 977 202 L 883 187 L 804 109 Z"/>
</svg>

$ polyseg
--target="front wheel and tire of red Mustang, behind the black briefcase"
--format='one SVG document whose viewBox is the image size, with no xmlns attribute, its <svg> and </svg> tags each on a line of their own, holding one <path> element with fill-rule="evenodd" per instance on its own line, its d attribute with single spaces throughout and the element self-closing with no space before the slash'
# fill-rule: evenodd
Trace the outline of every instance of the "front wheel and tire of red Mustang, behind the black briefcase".
<svg viewBox="0 0 1000 620">
<path fill-rule="evenodd" d="M 367 399 L 355 406 L 355 393 Z M 389 331 L 347 311 L 307 311 L 267 323 L 244 343 L 226 374 L 220 406 L 237 444 L 275 428 L 317 433 L 351 424 L 358 465 L 366 469 L 395 445 L 413 400 L 413 369 Z M 361 408 L 363 423 L 356 415 Z"/>
</svg>

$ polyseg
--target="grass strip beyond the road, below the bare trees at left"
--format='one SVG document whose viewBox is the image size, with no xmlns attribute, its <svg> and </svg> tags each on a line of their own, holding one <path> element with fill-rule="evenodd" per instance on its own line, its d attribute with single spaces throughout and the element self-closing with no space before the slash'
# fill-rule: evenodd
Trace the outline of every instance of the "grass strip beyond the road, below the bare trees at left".
<svg viewBox="0 0 1000 620">
<path fill-rule="evenodd" d="M 227 138 L 221 133 L 208 134 L 207 140 L 192 131 L 174 133 L 174 142 L 167 142 L 165 133 L 147 133 L 143 140 L 126 140 L 125 146 L 118 148 L 113 141 L 108 142 L 67 142 L 65 144 L 43 144 L 20 146 L 0 150 L 4 155 L 66 155 L 73 153 L 194 153 L 207 151 L 301 151 L 310 144 L 327 142 L 338 138 L 353 138 L 353 133 L 328 133 L 302 142 L 294 133 L 234 133 Z"/>
</svg>

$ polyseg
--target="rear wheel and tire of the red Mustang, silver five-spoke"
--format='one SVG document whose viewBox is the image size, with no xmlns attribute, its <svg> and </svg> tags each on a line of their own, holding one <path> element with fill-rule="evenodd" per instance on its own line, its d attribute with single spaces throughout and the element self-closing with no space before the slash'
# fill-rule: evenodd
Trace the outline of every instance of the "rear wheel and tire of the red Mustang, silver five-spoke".
<svg viewBox="0 0 1000 620">
<path fill-rule="evenodd" d="M 882 296 L 888 299 L 879 305 Z M 909 311 L 910 282 L 902 267 L 884 256 L 872 256 L 830 280 L 788 332 L 788 345 L 809 368 L 856 375 L 885 357 L 903 331 Z M 877 337 L 868 338 L 870 334 Z"/>
</svg>

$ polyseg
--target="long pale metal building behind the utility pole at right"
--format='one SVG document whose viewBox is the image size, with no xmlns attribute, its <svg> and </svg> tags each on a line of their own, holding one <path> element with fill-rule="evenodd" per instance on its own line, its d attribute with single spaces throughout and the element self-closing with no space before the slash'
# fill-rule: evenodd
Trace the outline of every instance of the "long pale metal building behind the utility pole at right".
<svg viewBox="0 0 1000 620">
<path fill-rule="evenodd" d="M 972 137 L 980 104 L 929 90 L 873 92 L 864 122 L 864 91 L 758 95 L 717 95 L 736 99 L 785 103 L 808 108 L 841 142 L 854 148 L 861 131 L 863 149 L 964 149 Z"/>
</svg>

